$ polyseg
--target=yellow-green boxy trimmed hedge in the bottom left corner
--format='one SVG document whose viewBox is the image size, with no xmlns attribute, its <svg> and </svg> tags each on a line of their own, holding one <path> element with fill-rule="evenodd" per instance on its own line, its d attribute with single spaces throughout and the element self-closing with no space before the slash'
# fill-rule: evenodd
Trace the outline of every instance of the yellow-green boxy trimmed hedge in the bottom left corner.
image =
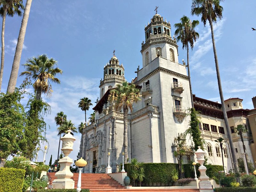
<svg viewBox="0 0 256 192">
<path fill-rule="evenodd" d="M 0 192 L 21 192 L 25 169 L 0 168 Z"/>
</svg>

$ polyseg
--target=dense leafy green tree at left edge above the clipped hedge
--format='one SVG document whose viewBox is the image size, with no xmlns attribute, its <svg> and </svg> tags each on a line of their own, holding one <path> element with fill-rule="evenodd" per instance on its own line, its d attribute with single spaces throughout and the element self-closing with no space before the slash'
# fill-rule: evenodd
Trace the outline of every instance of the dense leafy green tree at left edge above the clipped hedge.
<svg viewBox="0 0 256 192">
<path fill-rule="evenodd" d="M 20 140 L 24 141 L 26 113 L 21 92 L 18 89 L 10 94 L 0 93 L 0 161 L 20 149 Z"/>
</svg>

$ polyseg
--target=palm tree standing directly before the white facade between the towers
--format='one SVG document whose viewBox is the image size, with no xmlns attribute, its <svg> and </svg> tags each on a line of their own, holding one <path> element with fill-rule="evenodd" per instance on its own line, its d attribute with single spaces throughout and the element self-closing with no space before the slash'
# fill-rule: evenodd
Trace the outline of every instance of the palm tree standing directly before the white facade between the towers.
<svg viewBox="0 0 256 192">
<path fill-rule="evenodd" d="M 115 89 L 109 93 L 108 100 L 116 103 L 116 108 L 124 110 L 124 159 L 128 158 L 128 109 L 132 112 L 132 104 L 140 100 L 140 89 L 135 84 L 128 83 L 118 84 Z"/>
</svg>

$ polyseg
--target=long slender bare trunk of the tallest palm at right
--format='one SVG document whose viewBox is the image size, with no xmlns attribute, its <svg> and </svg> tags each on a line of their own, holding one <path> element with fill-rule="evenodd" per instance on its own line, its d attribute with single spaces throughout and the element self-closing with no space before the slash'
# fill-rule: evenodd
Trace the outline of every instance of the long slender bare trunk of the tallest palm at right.
<svg viewBox="0 0 256 192">
<path fill-rule="evenodd" d="M 227 135 L 228 135 L 228 140 L 229 140 L 229 144 L 230 144 L 230 150 L 231 150 L 231 155 L 232 155 L 232 159 L 233 159 L 235 173 L 238 173 L 236 151 L 235 151 L 234 144 L 233 144 L 232 137 L 231 137 L 231 130 L 230 130 L 230 127 L 229 127 L 229 124 L 228 124 L 228 116 L 227 116 L 227 111 L 226 111 L 224 98 L 223 98 L 222 87 L 221 87 L 219 64 L 218 64 L 217 52 L 216 52 L 215 41 L 214 41 L 213 26 L 212 26 L 212 17 L 209 17 L 209 23 L 210 23 L 211 32 L 212 32 L 212 46 L 213 46 L 215 67 L 216 67 L 217 80 L 218 80 L 218 86 L 219 86 L 219 92 L 220 92 L 221 107 L 222 107 L 222 111 L 223 111 L 225 125 L 226 125 L 226 128 L 227 128 L 227 133 L 228 133 Z"/>
</svg>

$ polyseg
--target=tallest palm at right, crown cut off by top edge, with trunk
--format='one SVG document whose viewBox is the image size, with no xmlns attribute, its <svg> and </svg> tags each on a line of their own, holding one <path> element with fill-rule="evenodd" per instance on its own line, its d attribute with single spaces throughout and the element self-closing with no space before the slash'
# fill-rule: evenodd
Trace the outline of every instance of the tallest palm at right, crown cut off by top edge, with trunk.
<svg viewBox="0 0 256 192">
<path fill-rule="evenodd" d="M 228 140 L 230 144 L 234 169 L 235 169 L 235 173 L 238 173 L 236 151 L 231 138 L 231 130 L 229 128 L 227 111 L 224 104 L 224 98 L 223 98 L 223 92 L 222 92 L 222 86 L 221 86 L 221 80 L 220 80 L 220 70 L 219 70 L 217 51 L 216 51 L 214 32 L 213 32 L 213 22 L 216 22 L 217 18 L 219 19 L 222 18 L 223 7 L 220 6 L 221 1 L 223 0 L 193 0 L 192 6 L 191 6 L 191 14 L 197 15 L 197 16 L 201 15 L 201 20 L 203 21 L 204 26 L 206 25 L 207 20 L 210 23 L 211 32 L 212 32 L 212 46 L 213 46 L 213 53 L 214 53 L 214 59 L 215 59 L 215 67 L 216 67 L 218 86 L 219 86 L 219 92 L 220 92 L 220 101 L 221 101 L 225 125 L 227 128 Z"/>
</svg>

